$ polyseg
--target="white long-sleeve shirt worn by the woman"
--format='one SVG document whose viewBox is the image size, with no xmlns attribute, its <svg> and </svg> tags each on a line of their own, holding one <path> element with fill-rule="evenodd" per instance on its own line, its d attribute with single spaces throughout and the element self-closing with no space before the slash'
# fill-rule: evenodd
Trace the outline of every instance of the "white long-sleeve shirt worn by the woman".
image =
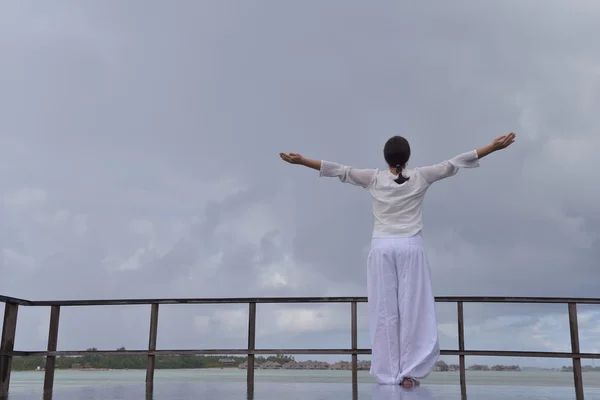
<svg viewBox="0 0 600 400">
<path fill-rule="evenodd" d="M 422 204 L 429 186 L 456 175 L 459 168 L 478 166 L 477 151 L 472 150 L 439 164 L 405 169 L 402 174 L 409 179 L 401 185 L 394 182 L 398 175 L 389 170 L 358 169 L 324 160 L 319 176 L 337 177 L 369 191 L 375 218 L 373 237 L 410 237 L 423 230 Z"/>
</svg>

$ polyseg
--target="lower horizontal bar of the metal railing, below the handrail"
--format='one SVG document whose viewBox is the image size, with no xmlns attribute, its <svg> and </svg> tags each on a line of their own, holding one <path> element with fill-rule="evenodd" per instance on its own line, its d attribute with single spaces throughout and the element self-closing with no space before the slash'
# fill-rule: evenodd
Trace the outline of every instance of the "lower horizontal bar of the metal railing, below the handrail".
<svg viewBox="0 0 600 400">
<path fill-rule="evenodd" d="M 194 356 L 194 355 L 246 355 L 246 354 L 297 354 L 297 355 L 326 355 L 326 354 L 371 354 L 370 349 L 198 349 L 198 350 L 82 350 L 82 351 L 12 351 L 2 355 L 22 357 L 45 356 L 84 356 L 84 355 L 111 355 L 111 356 Z M 581 358 L 600 359 L 596 353 L 566 353 L 548 351 L 505 351 L 505 350 L 441 350 L 443 356 L 472 356 L 472 357 L 524 357 L 524 358 Z"/>
</svg>

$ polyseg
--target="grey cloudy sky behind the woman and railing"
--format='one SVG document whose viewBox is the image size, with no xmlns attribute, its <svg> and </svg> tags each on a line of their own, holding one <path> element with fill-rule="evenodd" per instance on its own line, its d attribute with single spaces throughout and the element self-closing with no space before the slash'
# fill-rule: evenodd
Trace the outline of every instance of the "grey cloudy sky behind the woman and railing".
<svg viewBox="0 0 600 400">
<path fill-rule="evenodd" d="M 416 166 L 515 131 L 429 191 L 435 294 L 598 296 L 600 4 L 564 5 L 3 3 L 0 293 L 364 296 L 367 193 L 278 153 L 384 167 L 401 134 Z M 566 306 L 465 314 L 468 348 L 570 350 Z M 579 316 L 599 351 L 600 308 Z M 438 317 L 455 349 L 455 306 Z M 21 309 L 16 347 L 43 349 L 48 320 Z M 349 324 L 349 305 L 259 306 L 257 346 L 346 347 Z M 143 349 L 148 326 L 149 307 L 64 309 L 59 348 Z M 158 345 L 245 347 L 246 326 L 246 306 L 162 307 Z"/>
</svg>

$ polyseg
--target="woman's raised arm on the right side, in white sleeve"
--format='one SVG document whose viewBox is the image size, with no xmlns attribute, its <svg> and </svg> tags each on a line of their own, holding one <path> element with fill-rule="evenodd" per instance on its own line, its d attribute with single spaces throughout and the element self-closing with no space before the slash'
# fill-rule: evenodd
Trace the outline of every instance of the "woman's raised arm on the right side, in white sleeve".
<svg viewBox="0 0 600 400">
<path fill-rule="evenodd" d="M 417 168 L 417 171 L 419 171 L 423 178 L 430 184 L 444 178 L 449 178 L 456 175 L 459 168 L 478 167 L 480 159 L 495 151 L 507 148 L 514 143 L 515 136 L 514 133 L 502 135 L 494 139 L 494 141 L 487 146 L 459 154 L 458 156 L 439 164 Z"/>
</svg>

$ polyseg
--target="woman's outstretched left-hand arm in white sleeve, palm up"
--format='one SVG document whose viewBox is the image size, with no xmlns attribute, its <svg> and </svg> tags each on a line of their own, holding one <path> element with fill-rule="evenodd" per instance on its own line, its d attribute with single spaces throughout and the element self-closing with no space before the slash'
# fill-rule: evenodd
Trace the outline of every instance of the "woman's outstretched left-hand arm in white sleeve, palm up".
<svg viewBox="0 0 600 400">
<path fill-rule="evenodd" d="M 290 164 L 303 165 L 317 170 L 319 171 L 319 176 L 336 177 L 344 183 L 362 186 L 363 188 L 369 187 L 377 174 L 377 170 L 375 169 L 358 169 L 331 161 L 311 160 L 298 153 L 280 153 L 279 157 Z"/>
</svg>

